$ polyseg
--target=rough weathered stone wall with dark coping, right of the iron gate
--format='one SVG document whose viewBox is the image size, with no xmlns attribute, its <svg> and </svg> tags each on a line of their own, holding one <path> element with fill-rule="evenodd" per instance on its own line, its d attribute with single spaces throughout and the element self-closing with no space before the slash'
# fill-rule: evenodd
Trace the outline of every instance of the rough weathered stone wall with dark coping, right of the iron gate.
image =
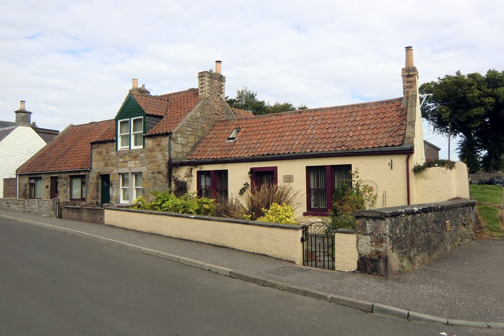
<svg viewBox="0 0 504 336">
<path fill-rule="evenodd" d="M 474 239 L 472 200 L 354 212 L 358 269 L 392 277 Z"/>
</svg>

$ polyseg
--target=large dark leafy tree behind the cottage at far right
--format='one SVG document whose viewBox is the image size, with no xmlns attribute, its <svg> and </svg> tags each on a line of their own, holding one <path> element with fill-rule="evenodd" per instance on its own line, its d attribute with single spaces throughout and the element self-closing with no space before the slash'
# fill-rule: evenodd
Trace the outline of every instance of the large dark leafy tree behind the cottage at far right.
<svg viewBox="0 0 504 336">
<path fill-rule="evenodd" d="M 502 168 L 504 71 L 488 70 L 484 76 L 457 71 L 423 83 L 420 94 L 432 94 L 422 107 L 422 117 L 437 133 L 447 135 L 451 126 L 452 134 L 461 137 L 459 158 L 471 172 Z"/>
</svg>

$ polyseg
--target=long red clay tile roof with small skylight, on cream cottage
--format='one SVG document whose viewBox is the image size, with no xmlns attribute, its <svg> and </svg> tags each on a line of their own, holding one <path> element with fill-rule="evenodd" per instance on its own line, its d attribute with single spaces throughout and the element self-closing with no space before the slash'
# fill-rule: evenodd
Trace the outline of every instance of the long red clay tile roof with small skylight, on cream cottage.
<svg viewBox="0 0 504 336">
<path fill-rule="evenodd" d="M 241 128 L 236 140 L 226 141 Z M 402 98 L 216 122 L 188 159 L 400 146 L 406 131 Z"/>
</svg>

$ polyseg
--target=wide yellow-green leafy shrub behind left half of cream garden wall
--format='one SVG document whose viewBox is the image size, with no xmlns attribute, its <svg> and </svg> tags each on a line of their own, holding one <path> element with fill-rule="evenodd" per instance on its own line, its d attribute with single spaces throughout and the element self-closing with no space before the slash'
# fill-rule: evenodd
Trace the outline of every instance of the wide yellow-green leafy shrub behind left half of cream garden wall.
<svg viewBox="0 0 504 336">
<path fill-rule="evenodd" d="M 134 201 L 132 208 L 207 216 L 212 213 L 215 206 L 215 200 L 200 198 L 196 196 L 196 192 L 180 197 L 176 197 L 170 190 L 153 191 L 152 194 L 154 195 L 152 202 L 147 203 L 143 197 L 139 197 Z"/>
</svg>

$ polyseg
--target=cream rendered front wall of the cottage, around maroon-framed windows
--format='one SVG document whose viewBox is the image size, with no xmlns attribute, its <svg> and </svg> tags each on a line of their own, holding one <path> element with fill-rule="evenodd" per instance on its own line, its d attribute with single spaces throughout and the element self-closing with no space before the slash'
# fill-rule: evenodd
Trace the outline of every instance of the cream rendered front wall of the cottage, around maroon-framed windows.
<svg viewBox="0 0 504 336">
<path fill-rule="evenodd" d="M 391 169 L 390 162 L 392 160 Z M 359 169 L 359 178 L 363 181 L 372 181 L 377 186 L 378 201 L 376 208 L 398 206 L 407 204 L 406 197 L 406 154 L 393 155 L 365 155 L 324 158 L 301 158 L 262 162 L 239 162 L 205 164 L 195 167 L 180 166 L 174 174 L 188 181 L 190 192 L 196 191 L 197 171 L 227 170 L 229 180 L 229 197 L 238 197 L 240 188 L 245 182 L 250 184 L 247 173 L 250 167 L 278 167 L 278 182 L 283 182 L 284 175 L 292 175 L 293 188 L 300 190 L 302 205 L 296 209 L 296 216 L 302 216 L 306 211 L 306 166 L 351 164 L 352 170 Z M 192 176 L 191 176 L 192 175 Z M 369 183 L 370 185 L 373 185 Z M 386 197 L 384 197 L 386 192 Z"/>
</svg>

